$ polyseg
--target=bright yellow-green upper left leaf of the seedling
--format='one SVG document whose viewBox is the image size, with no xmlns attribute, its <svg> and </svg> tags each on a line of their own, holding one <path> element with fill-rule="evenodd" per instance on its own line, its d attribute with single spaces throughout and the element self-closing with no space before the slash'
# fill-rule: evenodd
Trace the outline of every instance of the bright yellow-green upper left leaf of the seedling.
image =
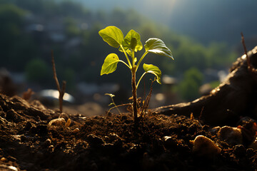
<svg viewBox="0 0 257 171">
<path fill-rule="evenodd" d="M 99 35 L 103 38 L 104 41 L 106 41 L 106 43 L 109 43 L 109 45 L 114 48 L 119 48 L 124 39 L 124 34 L 116 26 L 108 26 L 102 29 L 99 31 Z"/>
</svg>

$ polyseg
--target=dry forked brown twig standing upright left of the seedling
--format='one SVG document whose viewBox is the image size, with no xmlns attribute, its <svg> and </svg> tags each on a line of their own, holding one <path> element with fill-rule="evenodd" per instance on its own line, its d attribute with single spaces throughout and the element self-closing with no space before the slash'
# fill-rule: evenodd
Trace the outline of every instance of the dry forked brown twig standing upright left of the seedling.
<svg viewBox="0 0 257 171">
<path fill-rule="evenodd" d="M 54 73 L 54 81 L 56 82 L 56 87 L 57 90 L 59 91 L 59 108 L 60 108 L 60 112 L 63 112 L 63 101 L 64 101 L 64 93 L 65 93 L 65 89 L 66 89 L 66 81 L 62 82 L 62 86 L 60 87 L 57 75 L 56 75 L 56 67 L 55 67 L 55 63 L 54 63 L 54 53 L 53 51 L 51 51 L 51 63 L 53 66 L 53 73 Z"/>
</svg>

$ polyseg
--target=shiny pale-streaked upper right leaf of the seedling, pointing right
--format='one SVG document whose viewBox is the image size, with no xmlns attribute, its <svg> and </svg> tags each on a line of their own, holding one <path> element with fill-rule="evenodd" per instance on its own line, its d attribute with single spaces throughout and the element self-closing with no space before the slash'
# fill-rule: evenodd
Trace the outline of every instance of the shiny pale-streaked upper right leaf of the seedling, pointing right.
<svg viewBox="0 0 257 171">
<path fill-rule="evenodd" d="M 161 56 L 167 56 L 173 58 L 171 50 L 161 41 L 159 38 L 149 38 L 145 44 L 146 51 L 155 53 Z"/>
</svg>

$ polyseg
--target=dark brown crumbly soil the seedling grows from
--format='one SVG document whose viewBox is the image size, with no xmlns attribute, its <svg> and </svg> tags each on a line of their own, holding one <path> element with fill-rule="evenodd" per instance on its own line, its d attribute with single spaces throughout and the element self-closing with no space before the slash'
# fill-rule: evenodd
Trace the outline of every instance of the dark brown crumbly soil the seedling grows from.
<svg viewBox="0 0 257 171">
<path fill-rule="evenodd" d="M 86 117 L 0 94 L 0 170 L 256 170 L 256 150 L 183 115 Z M 63 118 L 61 122 L 49 122 Z M 71 120 L 69 123 L 68 120 Z M 59 120 L 60 121 L 60 120 Z M 63 122 L 64 121 L 64 122 Z M 198 135 L 221 149 L 193 152 Z"/>
</svg>

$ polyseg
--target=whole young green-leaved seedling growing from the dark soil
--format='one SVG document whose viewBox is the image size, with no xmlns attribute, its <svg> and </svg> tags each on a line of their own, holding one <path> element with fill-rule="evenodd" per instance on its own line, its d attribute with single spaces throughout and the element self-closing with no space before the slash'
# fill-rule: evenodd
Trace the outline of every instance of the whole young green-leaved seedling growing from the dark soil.
<svg viewBox="0 0 257 171">
<path fill-rule="evenodd" d="M 132 86 L 132 97 L 133 97 L 133 118 L 134 122 L 138 123 L 138 107 L 137 107 L 137 97 L 136 97 L 136 89 L 146 73 L 152 73 L 156 76 L 157 83 L 161 84 L 161 71 L 157 66 L 153 66 L 152 64 L 143 63 L 144 73 L 142 74 L 141 78 L 139 78 L 138 82 L 136 83 L 136 71 L 138 70 L 138 66 L 143 61 L 147 53 L 155 53 L 161 56 L 167 56 L 173 59 L 171 50 L 166 47 L 166 45 L 161 41 L 159 38 L 149 38 L 144 45 L 145 52 L 137 60 L 135 56 L 135 52 L 141 51 L 143 46 L 140 40 L 140 35 L 136 33 L 136 31 L 129 31 L 124 38 L 124 34 L 122 31 L 117 28 L 116 26 L 108 26 L 101 31 L 99 31 L 99 35 L 103 38 L 106 43 L 114 48 L 119 48 L 119 51 L 123 52 L 126 61 L 122 61 L 116 55 L 116 53 L 109 54 L 106 59 L 104 60 L 104 64 L 101 67 L 101 76 L 104 74 L 113 73 L 116 71 L 117 64 L 119 62 L 124 63 L 131 71 L 131 86 Z M 131 58 L 129 58 L 129 56 Z"/>
</svg>

